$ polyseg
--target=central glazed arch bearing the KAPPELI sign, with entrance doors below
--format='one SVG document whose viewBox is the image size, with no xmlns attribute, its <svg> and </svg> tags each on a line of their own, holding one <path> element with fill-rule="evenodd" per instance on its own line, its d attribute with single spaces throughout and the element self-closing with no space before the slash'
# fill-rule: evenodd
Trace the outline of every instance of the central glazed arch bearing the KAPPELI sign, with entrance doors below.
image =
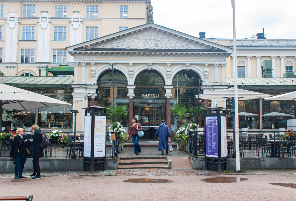
<svg viewBox="0 0 296 201">
<path fill-rule="evenodd" d="M 159 72 L 145 70 L 136 76 L 135 85 L 133 115 L 145 133 L 141 140 L 157 140 L 155 132 L 166 112 L 165 80 Z"/>
</svg>

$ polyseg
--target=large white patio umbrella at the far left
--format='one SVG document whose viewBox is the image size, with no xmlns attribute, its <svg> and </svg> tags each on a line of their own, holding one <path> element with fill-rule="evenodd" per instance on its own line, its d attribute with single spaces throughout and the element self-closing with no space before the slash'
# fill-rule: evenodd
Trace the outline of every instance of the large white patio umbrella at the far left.
<svg viewBox="0 0 296 201">
<path fill-rule="evenodd" d="M 2 108 L 32 110 L 41 107 L 72 105 L 45 95 L 37 94 L 14 86 L 0 84 L 0 129 L 2 128 Z"/>
</svg>

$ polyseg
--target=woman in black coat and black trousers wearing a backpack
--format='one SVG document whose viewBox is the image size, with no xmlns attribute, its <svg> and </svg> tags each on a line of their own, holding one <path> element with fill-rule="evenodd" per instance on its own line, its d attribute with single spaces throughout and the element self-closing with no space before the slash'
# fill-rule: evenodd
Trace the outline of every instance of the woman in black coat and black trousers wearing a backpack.
<svg viewBox="0 0 296 201">
<path fill-rule="evenodd" d="M 30 174 L 30 177 L 33 177 L 32 179 L 41 179 L 40 176 L 40 165 L 39 165 L 39 158 L 44 156 L 43 149 L 40 148 L 40 144 L 42 141 L 42 133 L 39 129 L 38 125 L 34 124 L 32 127 L 33 131 L 33 146 L 32 146 L 32 158 L 33 158 L 33 174 Z"/>
</svg>

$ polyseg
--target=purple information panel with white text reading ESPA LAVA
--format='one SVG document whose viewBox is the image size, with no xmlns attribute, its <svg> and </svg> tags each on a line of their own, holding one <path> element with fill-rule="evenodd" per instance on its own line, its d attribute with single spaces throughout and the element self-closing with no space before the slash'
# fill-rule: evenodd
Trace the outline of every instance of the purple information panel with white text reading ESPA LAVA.
<svg viewBox="0 0 296 201">
<path fill-rule="evenodd" d="M 218 116 L 205 117 L 206 156 L 218 158 Z"/>
</svg>

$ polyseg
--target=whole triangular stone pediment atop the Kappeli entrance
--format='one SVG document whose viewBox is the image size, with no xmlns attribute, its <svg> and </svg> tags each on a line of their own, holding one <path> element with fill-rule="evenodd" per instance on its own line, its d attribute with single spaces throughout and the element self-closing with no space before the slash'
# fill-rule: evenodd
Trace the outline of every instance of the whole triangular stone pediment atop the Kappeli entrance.
<svg viewBox="0 0 296 201">
<path fill-rule="evenodd" d="M 203 52 L 227 52 L 232 49 L 207 40 L 184 34 L 157 24 L 143 24 L 111 35 L 66 48 L 68 51 L 104 51 L 104 49 L 145 50 L 202 50 Z M 124 50 L 122 50 L 124 51 Z"/>
</svg>

